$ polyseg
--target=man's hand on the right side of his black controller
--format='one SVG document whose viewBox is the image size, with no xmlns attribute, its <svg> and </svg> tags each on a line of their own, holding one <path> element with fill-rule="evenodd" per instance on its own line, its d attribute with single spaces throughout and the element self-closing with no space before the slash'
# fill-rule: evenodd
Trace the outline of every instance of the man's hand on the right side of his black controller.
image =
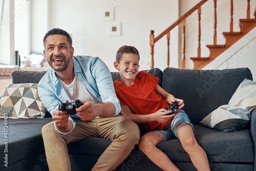
<svg viewBox="0 0 256 171">
<path fill-rule="evenodd" d="M 76 114 L 79 115 L 81 120 L 88 121 L 96 118 L 100 112 L 95 106 L 96 104 L 90 103 L 85 100 L 80 100 L 83 105 L 76 109 Z"/>
</svg>

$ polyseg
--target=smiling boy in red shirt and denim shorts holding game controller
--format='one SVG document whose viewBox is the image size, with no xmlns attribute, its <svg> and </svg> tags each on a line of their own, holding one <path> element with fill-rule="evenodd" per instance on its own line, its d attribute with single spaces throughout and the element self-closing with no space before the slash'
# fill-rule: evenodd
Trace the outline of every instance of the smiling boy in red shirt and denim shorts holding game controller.
<svg viewBox="0 0 256 171">
<path fill-rule="evenodd" d="M 139 70 L 139 52 L 135 47 L 123 46 L 116 54 L 114 67 L 121 80 L 114 82 L 115 91 L 124 117 L 139 124 L 145 134 L 140 138 L 140 150 L 163 170 L 179 170 L 156 145 L 180 139 L 185 151 L 198 170 L 210 170 L 207 156 L 197 143 L 193 124 L 183 110 L 183 100 L 175 98 L 158 86 L 158 78 Z M 166 115 L 168 104 L 177 101 L 176 114 Z"/>
</svg>

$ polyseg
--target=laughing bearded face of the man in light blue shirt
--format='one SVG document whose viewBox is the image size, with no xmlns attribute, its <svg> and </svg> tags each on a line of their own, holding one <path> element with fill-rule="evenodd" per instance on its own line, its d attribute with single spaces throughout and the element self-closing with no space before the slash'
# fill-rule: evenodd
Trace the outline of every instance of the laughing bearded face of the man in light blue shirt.
<svg viewBox="0 0 256 171">
<path fill-rule="evenodd" d="M 74 49 L 70 47 L 68 39 L 64 35 L 49 35 L 46 38 L 45 58 L 54 71 L 65 71 L 69 68 Z"/>
</svg>

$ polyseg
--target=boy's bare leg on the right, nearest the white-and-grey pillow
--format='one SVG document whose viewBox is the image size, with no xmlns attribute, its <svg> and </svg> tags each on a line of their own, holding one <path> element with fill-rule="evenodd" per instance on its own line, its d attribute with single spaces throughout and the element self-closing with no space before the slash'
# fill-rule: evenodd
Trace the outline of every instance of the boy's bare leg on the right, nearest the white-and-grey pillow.
<svg viewBox="0 0 256 171">
<path fill-rule="evenodd" d="M 209 162 L 203 148 L 197 143 L 194 131 L 189 124 L 183 124 L 177 131 L 182 147 L 198 170 L 210 170 Z"/>
</svg>

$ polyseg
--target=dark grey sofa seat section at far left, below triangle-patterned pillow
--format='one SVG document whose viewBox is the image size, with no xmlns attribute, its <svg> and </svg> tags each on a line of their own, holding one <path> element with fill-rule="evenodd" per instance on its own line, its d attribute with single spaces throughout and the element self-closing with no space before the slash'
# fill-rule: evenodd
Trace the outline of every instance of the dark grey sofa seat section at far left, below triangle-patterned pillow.
<svg viewBox="0 0 256 171">
<path fill-rule="evenodd" d="M 8 121 L 8 166 L 45 151 L 41 129 L 53 121 L 45 119 L 7 119 Z M 4 130 L 4 119 L 0 119 L 0 129 Z M 0 135 L 6 139 L 4 134 Z M 5 144 L 0 144 L 0 157 L 4 158 Z M 1 165 L 2 166 L 2 165 Z M 0 168 L 1 169 L 1 168 Z"/>
</svg>

